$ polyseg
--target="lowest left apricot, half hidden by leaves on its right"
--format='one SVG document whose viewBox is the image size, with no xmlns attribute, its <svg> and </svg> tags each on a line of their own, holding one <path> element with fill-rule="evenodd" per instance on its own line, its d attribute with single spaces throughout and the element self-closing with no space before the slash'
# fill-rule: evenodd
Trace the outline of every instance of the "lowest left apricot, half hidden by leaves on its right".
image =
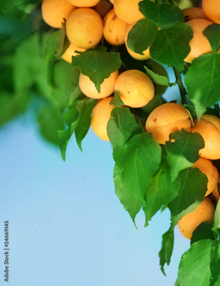
<svg viewBox="0 0 220 286">
<path fill-rule="evenodd" d="M 110 105 L 113 96 L 102 99 L 92 110 L 92 129 L 102 140 L 110 141 L 107 134 L 107 123 L 114 108 Z"/>
</svg>

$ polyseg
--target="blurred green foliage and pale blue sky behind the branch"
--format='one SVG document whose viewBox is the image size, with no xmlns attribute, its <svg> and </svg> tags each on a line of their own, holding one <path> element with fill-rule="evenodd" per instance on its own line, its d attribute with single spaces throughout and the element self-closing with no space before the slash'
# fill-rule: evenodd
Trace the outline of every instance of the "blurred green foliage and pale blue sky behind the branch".
<svg viewBox="0 0 220 286">
<path fill-rule="evenodd" d="M 110 142 L 90 128 L 83 152 L 72 136 L 62 160 L 57 130 L 67 128 L 62 116 L 82 97 L 74 89 L 79 71 L 54 56 L 55 29 L 40 7 L 35 0 L 0 3 L 0 284 L 9 221 L 9 286 L 173 286 L 190 241 L 175 228 L 165 277 L 158 252 L 169 210 L 146 228 L 141 210 L 135 228 L 114 194 Z M 163 98 L 179 100 L 178 87 Z"/>
</svg>

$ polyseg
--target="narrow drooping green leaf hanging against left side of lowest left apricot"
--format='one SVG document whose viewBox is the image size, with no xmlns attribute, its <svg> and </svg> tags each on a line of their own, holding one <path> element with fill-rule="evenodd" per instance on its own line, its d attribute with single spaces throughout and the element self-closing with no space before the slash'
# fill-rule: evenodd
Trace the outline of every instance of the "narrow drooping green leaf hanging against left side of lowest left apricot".
<svg viewBox="0 0 220 286">
<path fill-rule="evenodd" d="M 75 130 L 76 142 L 82 151 L 82 140 L 86 136 L 87 132 L 89 131 L 91 125 L 91 114 L 92 109 L 96 105 L 97 99 L 92 98 L 85 98 L 81 100 L 76 108 L 79 112 L 79 122 Z"/>
</svg>

